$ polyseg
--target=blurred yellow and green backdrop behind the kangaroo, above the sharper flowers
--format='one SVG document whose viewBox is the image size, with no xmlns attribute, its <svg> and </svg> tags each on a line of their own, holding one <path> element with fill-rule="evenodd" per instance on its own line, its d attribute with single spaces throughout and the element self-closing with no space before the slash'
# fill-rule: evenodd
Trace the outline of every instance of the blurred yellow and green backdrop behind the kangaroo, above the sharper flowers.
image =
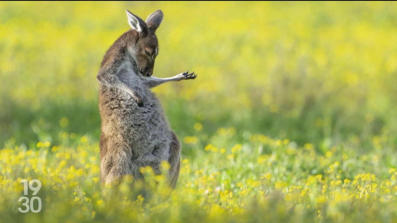
<svg viewBox="0 0 397 223">
<path fill-rule="evenodd" d="M 98 141 L 96 74 L 129 29 L 164 12 L 154 76 L 187 69 L 194 81 L 154 88 L 189 144 L 220 127 L 318 150 L 394 135 L 397 8 L 390 2 L 1 2 L 0 148 Z M 205 143 L 204 143 L 205 144 Z M 183 150 L 188 154 L 189 150 Z"/>
</svg>

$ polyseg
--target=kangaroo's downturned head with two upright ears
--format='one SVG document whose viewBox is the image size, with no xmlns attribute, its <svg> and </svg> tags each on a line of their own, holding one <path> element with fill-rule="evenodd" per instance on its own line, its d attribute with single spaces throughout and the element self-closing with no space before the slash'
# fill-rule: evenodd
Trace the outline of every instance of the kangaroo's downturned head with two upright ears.
<svg viewBox="0 0 397 223">
<path fill-rule="evenodd" d="M 153 12 L 144 22 L 137 15 L 126 11 L 129 25 L 138 33 L 137 42 L 132 50 L 138 63 L 139 73 L 150 77 L 153 74 L 154 60 L 158 54 L 158 41 L 154 32 L 163 20 L 163 12 L 161 10 Z"/>
</svg>

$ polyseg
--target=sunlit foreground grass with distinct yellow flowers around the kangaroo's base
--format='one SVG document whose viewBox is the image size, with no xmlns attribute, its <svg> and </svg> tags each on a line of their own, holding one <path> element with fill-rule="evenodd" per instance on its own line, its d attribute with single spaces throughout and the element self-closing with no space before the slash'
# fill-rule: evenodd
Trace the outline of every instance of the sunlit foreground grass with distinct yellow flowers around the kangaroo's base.
<svg viewBox="0 0 397 223">
<path fill-rule="evenodd" d="M 197 140 L 189 141 L 197 157 L 181 158 L 175 190 L 166 182 L 167 163 L 158 176 L 150 167 L 141 168 L 145 183 L 127 176 L 117 187 L 101 186 L 98 143 L 73 133 L 59 137 L 58 146 L 38 142 L 30 150 L 9 140 L 0 151 L 6 221 L 31 222 L 31 214 L 15 211 L 21 179 L 42 183 L 38 196 L 44 205 L 34 218 L 40 222 L 393 222 L 397 217 L 397 171 L 387 164 L 394 154 L 387 137 L 373 138 L 372 151 L 357 156 L 354 142 L 335 144 L 323 154 L 309 143 L 300 147 L 262 134 L 246 133 L 235 144 L 235 130 L 223 128 L 202 147 L 197 133 L 191 136 Z"/>
</svg>

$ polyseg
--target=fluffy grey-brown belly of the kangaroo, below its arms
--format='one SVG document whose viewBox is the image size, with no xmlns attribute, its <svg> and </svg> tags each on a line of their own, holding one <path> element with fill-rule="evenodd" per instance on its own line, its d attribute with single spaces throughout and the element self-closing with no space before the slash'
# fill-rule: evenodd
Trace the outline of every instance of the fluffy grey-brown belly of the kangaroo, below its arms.
<svg viewBox="0 0 397 223">
<path fill-rule="evenodd" d="M 116 89 L 108 91 L 105 97 L 100 96 L 102 133 L 106 135 L 108 132 L 108 137 L 117 133 L 136 157 L 150 152 L 160 160 L 167 160 L 170 128 L 154 94 L 142 94 L 144 105 L 139 107 L 128 94 Z"/>
</svg>

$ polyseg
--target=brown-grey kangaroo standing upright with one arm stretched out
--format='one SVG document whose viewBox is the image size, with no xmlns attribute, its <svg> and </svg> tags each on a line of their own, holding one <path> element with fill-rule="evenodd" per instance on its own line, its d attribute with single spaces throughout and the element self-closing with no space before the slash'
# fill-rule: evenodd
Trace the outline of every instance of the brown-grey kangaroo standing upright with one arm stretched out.
<svg viewBox="0 0 397 223">
<path fill-rule="evenodd" d="M 100 83 L 101 180 L 105 184 L 119 182 L 124 175 L 143 179 L 140 167 L 150 166 L 159 174 L 160 163 L 168 161 L 167 178 L 175 187 L 181 144 L 150 88 L 169 81 L 195 79 L 197 74 L 187 71 L 168 78 L 151 77 L 158 55 L 155 31 L 163 12 L 153 12 L 146 22 L 126 12 L 131 29 L 108 49 L 96 76 Z"/>
</svg>

